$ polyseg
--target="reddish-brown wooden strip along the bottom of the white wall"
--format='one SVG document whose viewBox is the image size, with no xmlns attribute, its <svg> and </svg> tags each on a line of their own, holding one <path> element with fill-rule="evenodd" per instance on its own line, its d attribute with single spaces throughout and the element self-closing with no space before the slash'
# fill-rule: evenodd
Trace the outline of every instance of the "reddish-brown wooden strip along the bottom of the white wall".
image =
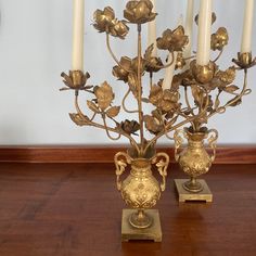
<svg viewBox="0 0 256 256">
<path fill-rule="evenodd" d="M 16 163 L 112 163 L 120 146 L 0 146 L 0 162 Z M 158 148 L 174 162 L 174 148 Z M 256 164 L 255 145 L 218 145 L 217 164 Z"/>
</svg>

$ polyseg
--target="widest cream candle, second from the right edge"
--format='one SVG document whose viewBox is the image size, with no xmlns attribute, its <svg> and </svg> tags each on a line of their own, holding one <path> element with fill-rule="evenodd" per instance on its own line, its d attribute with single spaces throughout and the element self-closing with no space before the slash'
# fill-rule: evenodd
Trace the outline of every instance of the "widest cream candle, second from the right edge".
<svg viewBox="0 0 256 256">
<path fill-rule="evenodd" d="M 201 66 L 205 66 L 209 63 L 212 8 L 212 0 L 201 0 L 196 53 L 196 64 Z"/>
</svg>

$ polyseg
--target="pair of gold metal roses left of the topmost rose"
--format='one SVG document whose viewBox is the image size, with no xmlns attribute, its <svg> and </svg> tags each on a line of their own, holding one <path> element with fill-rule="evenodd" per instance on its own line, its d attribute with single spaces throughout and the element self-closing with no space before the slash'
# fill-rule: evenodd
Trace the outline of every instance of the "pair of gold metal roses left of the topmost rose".
<svg viewBox="0 0 256 256">
<path fill-rule="evenodd" d="M 93 26 L 100 33 L 110 33 L 114 37 L 124 39 L 129 31 L 125 21 L 115 18 L 115 12 L 111 7 L 106 7 L 103 11 L 98 9 L 94 12 L 93 20 Z"/>
</svg>

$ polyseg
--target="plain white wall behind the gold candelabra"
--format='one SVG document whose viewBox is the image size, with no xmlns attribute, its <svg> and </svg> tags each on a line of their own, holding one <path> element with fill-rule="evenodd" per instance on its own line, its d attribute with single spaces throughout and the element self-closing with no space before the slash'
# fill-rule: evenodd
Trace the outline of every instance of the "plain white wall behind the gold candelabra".
<svg viewBox="0 0 256 256">
<path fill-rule="evenodd" d="M 63 86 L 60 74 L 71 66 L 72 2 L 0 0 L 0 144 L 113 143 L 101 130 L 75 126 L 68 117 L 68 112 L 74 111 L 73 93 L 59 92 Z M 111 75 L 114 63 L 106 53 L 104 35 L 98 34 L 90 24 L 95 9 L 112 5 L 120 17 L 126 2 L 86 0 L 85 66 L 92 76 L 90 82 L 106 79 L 114 85 L 117 101 L 125 87 Z M 179 15 L 185 11 L 185 0 L 158 0 L 157 3 L 161 35 L 163 29 L 175 27 Z M 241 0 L 214 0 L 218 15 L 214 30 L 226 26 L 230 33 L 230 44 L 219 63 L 222 67 L 230 65 L 240 50 L 243 4 Z M 256 18 L 254 35 L 255 27 Z M 131 29 L 130 34 L 133 31 Z M 129 36 L 127 41 L 114 39 L 113 47 L 117 54 L 133 54 L 135 37 Z M 253 48 L 256 54 L 255 43 Z M 256 69 L 251 71 L 249 84 L 254 89 Z M 255 99 L 256 90 L 241 106 L 210 120 L 209 127 L 220 132 L 219 143 L 256 143 Z M 125 139 L 119 141 L 125 142 Z"/>
</svg>

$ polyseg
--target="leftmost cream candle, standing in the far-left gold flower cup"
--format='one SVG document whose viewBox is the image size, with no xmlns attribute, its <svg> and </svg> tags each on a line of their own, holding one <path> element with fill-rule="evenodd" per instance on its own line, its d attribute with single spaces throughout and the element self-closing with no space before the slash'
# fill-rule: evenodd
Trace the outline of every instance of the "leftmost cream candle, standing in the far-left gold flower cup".
<svg viewBox="0 0 256 256">
<path fill-rule="evenodd" d="M 84 71 L 85 0 L 73 0 L 72 71 Z"/>
</svg>

